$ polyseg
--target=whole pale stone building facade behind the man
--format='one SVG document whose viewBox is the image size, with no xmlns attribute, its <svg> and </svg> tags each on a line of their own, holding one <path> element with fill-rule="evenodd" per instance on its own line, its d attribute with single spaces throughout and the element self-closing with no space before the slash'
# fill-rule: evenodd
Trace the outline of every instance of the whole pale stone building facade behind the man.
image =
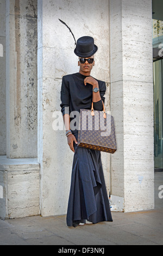
<svg viewBox="0 0 163 256">
<path fill-rule="evenodd" d="M 106 82 L 117 136 L 116 153 L 102 153 L 112 210 L 154 209 L 155 2 L 0 1 L 0 218 L 66 214 L 73 153 L 60 88 L 79 70 L 59 19 L 76 40 L 90 35 L 98 45 L 92 76 Z"/>
</svg>

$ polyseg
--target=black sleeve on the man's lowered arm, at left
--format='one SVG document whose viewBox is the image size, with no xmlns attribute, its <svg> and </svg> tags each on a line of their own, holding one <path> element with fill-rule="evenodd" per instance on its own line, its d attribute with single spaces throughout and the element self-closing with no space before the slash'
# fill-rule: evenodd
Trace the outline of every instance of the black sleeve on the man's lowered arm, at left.
<svg viewBox="0 0 163 256">
<path fill-rule="evenodd" d="M 70 88 L 69 83 L 66 81 L 65 76 L 62 77 L 62 85 L 61 85 L 61 92 L 60 92 L 60 99 L 61 99 L 61 112 L 64 116 L 65 114 L 70 114 Z M 69 108 L 69 111 L 66 111 L 66 107 Z"/>
</svg>

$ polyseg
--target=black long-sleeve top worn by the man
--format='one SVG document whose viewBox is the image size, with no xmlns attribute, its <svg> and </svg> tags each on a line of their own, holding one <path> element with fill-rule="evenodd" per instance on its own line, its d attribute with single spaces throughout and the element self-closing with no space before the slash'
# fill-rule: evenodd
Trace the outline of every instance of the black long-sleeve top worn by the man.
<svg viewBox="0 0 163 256">
<path fill-rule="evenodd" d="M 92 105 L 92 85 L 87 83 L 86 86 L 84 84 L 84 79 L 87 76 L 84 76 L 80 73 L 66 75 L 62 77 L 62 85 L 61 85 L 61 112 L 64 116 L 67 114 L 66 108 L 69 107 L 69 113 L 72 111 L 80 112 L 80 109 L 91 109 Z M 96 78 L 95 78 L 96 79 Z M 97 80 L 99 85 L 99 93 L 101 95 L 101 99 L 105 102 L 105 92 L 106 92 L 106 84 L 103 81 Z M 102 100 L 98 102 L 93 102 L 93 108 L 98 111 L 103 110 Z M 71 118 L 72 120 L 73 118 Z M 77 131 L 72 131 L 76 133 Z"/>
</svg>

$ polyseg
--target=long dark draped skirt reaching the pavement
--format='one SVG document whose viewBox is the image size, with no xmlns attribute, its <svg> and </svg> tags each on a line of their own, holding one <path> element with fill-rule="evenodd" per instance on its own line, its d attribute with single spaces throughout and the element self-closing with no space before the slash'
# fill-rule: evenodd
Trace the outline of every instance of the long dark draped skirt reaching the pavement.
<svg viewBox="0 0 163 256">
<path fill-rule="evenodd" d="M 75 143 L 74 150 L 67 225 L 77 227 L 86 220 L 112 222 L 101 152 L 78 147 Z"/>
</svg>

